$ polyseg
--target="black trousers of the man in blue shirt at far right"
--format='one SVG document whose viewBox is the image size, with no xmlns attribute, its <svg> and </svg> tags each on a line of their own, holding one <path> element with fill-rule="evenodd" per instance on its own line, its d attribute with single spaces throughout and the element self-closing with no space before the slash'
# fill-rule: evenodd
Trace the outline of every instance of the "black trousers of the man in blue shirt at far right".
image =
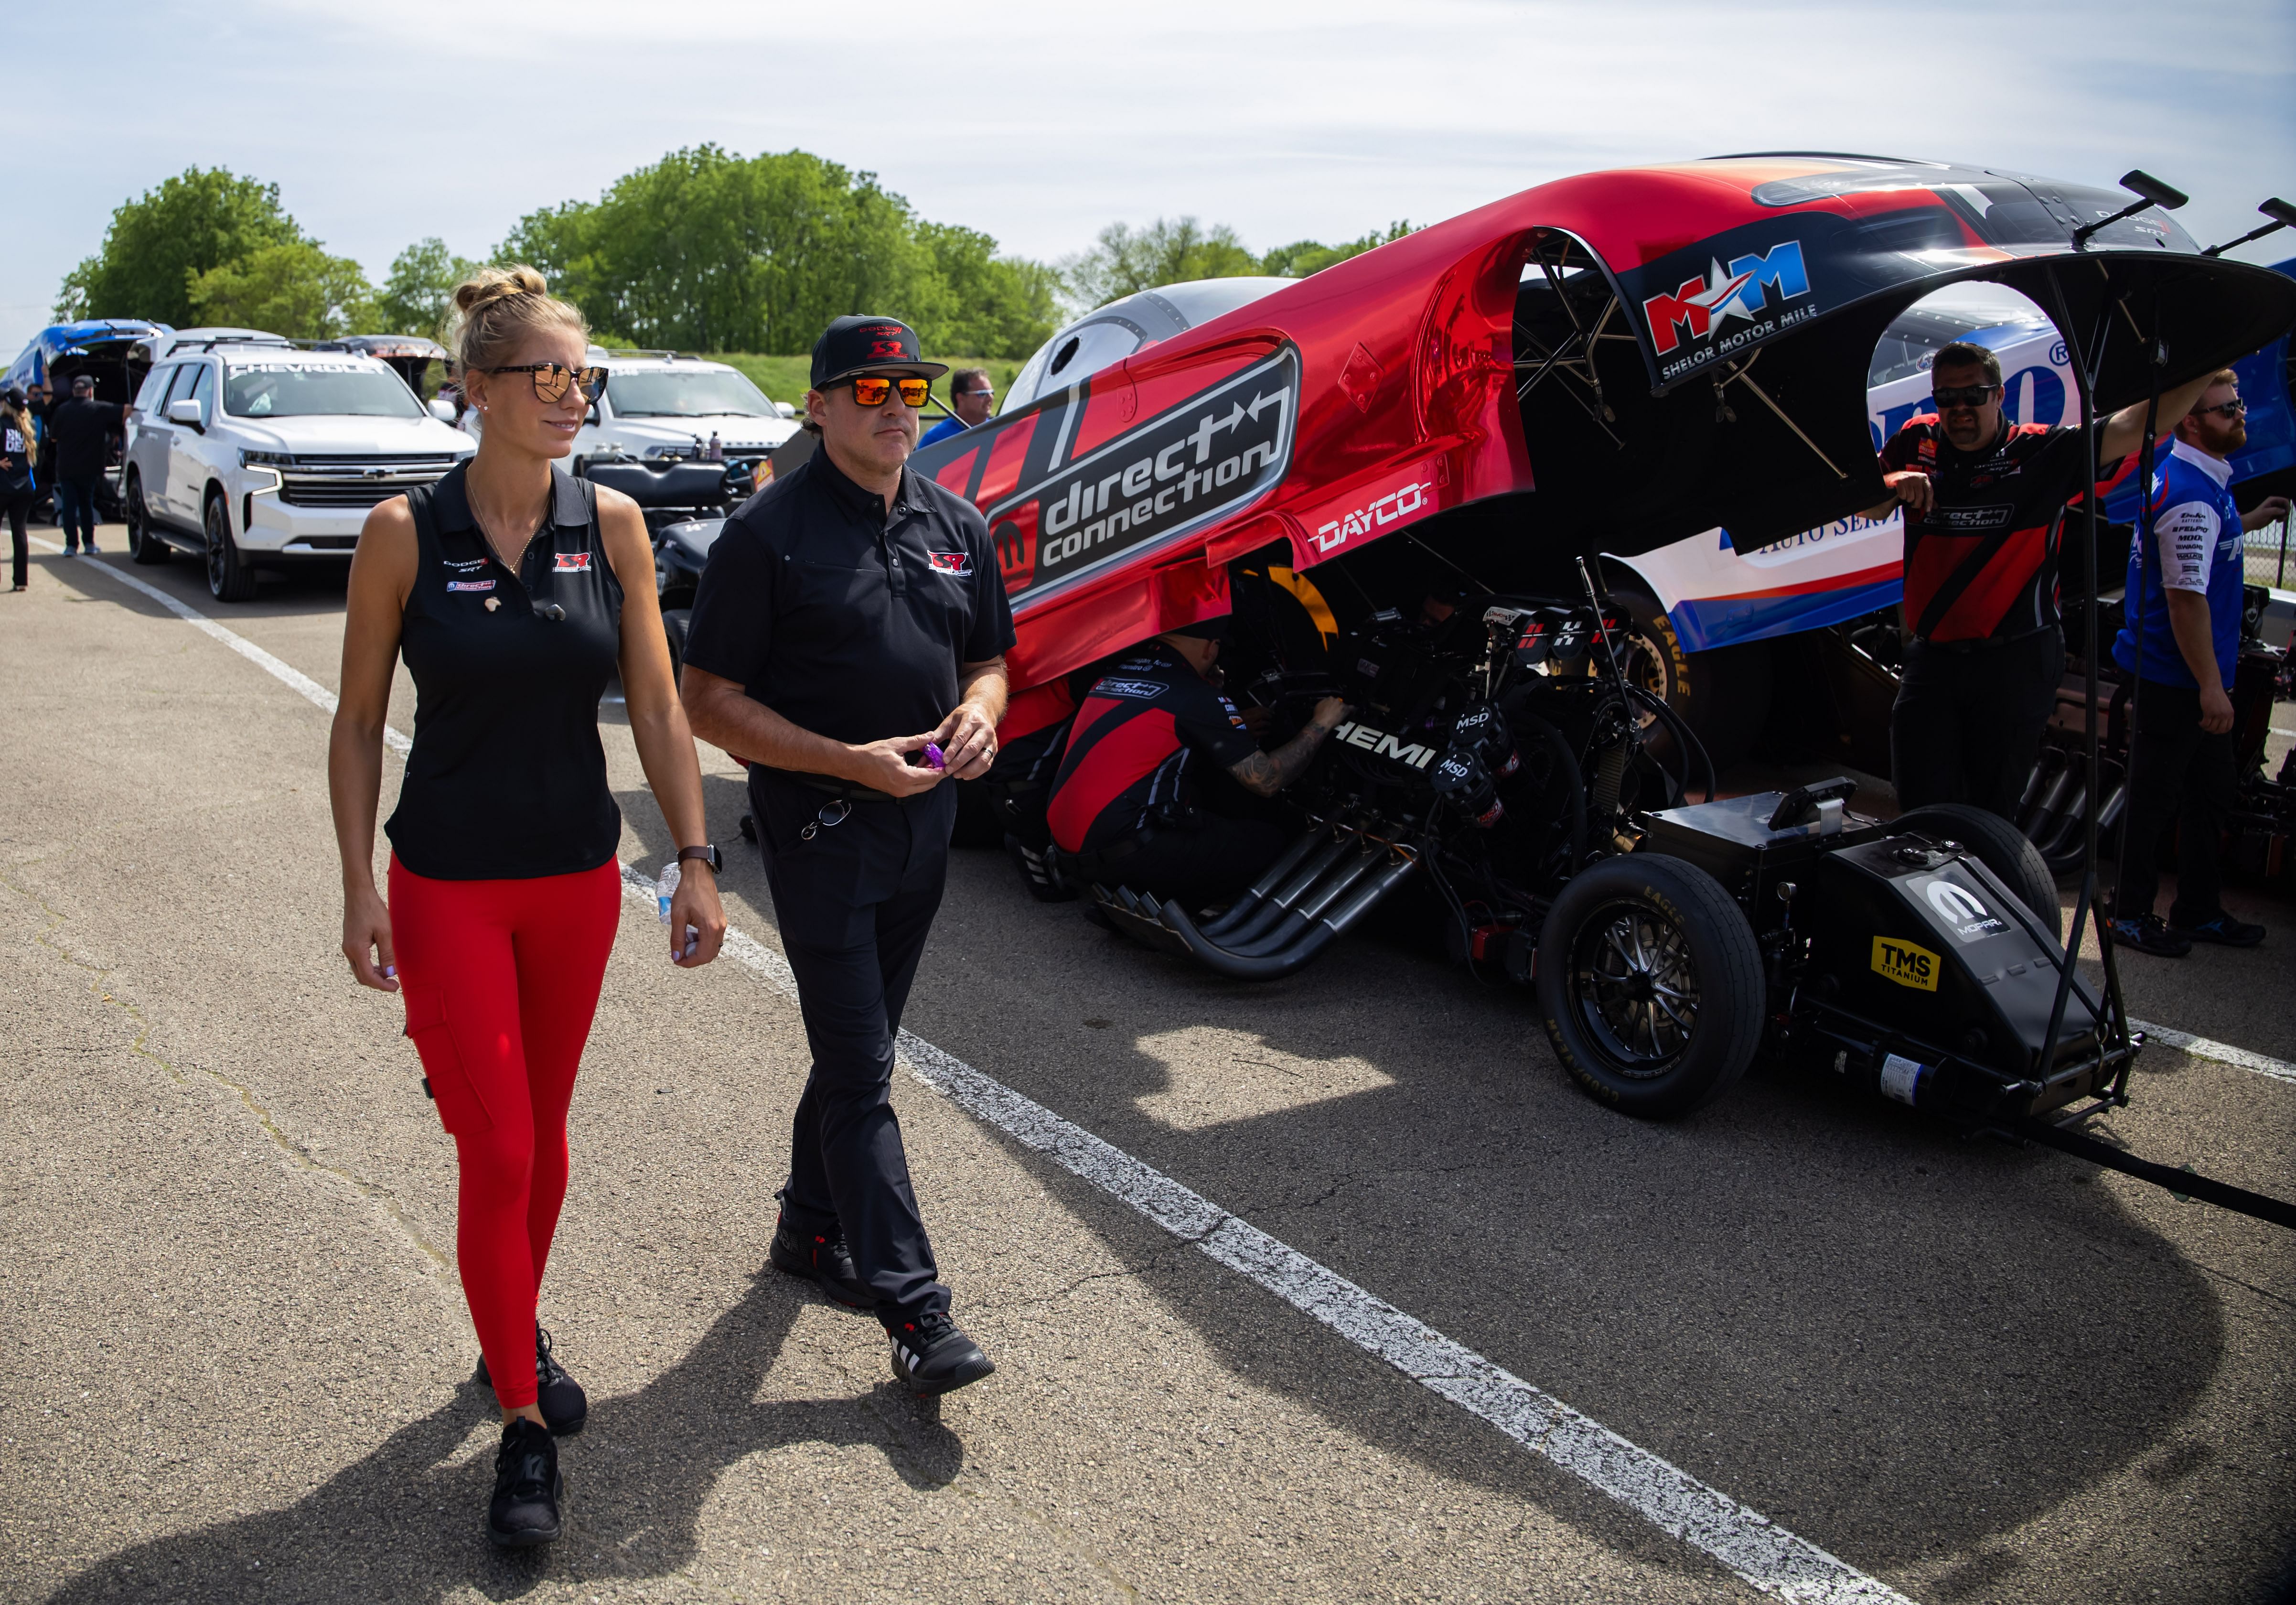
<svg viewBox="0 0 2296 1605">
<path fill-rule="evenodd" d="M 2200 728 L 2200 691 L 2138 684 L 2135 753 L 2128 774 L 2128 836 L 2122 838 L 2115 918 L 2151 914 L 2161 895 L 2161 840 L 2177 827 L 2177 902 L 2170 925 L 2206 925 L 2225 912 L 2220 847 L 2239 792 L 2232 730 Z"/>
</svg>

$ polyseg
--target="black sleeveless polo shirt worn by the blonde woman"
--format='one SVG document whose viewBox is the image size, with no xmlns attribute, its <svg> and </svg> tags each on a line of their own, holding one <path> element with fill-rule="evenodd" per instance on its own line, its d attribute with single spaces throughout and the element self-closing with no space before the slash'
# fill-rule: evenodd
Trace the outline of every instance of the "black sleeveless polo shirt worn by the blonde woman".
<svg viewBox="0 0 2296 1605">
<path fill-rule="evenodd" d="M 390 847 L 432 879 L 595 870 L 622 843 L 597 739 L 622 586 L 597 491 L 551 468 L 551 517 L 517 574 L 478 533 L 461 466 L 406 501 L 420 560 L 400 654 L 416 682 L 416 739 L 383 824 Z"/>
</svg>

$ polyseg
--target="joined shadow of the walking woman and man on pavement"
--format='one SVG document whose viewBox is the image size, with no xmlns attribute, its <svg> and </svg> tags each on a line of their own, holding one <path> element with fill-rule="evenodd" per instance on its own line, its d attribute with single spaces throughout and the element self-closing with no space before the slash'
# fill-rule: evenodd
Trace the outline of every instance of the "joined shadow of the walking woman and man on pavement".
<svg viewBox="0 0 2296 1605">
<path fill-rule="evenodd" d="M 751 1453 L 875 1447 L 912 1488 L 955 1479 L 964 1444 L 891 1380 L 856 1398 L 755 1398 L 804 1302 L 760 1277 L 673 1368 L 592 1401 L 583 1435 L 560 1442 L 567 1536 L 544 1550 L 503 1554 L 484 1538 L 494 1433 L 457 1451 L 494 1417 L 494 1394 L 464 1382 L 296 1504 L 122 1550 L 48 1600 L 434 1600 L 461 1589 L 507 1600 L 544 1580 L 687 1566 L 703 1504 Z"/>
</svg>

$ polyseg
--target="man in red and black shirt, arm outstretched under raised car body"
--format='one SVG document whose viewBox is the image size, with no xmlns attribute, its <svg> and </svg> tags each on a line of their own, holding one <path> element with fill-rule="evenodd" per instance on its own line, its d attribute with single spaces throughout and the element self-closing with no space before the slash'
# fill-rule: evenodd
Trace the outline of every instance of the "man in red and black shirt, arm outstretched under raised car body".
<svg viewBox="0 0 2296 1605">
<path fill-rule="evenodd" d="M 2161 397 L 2181 418 L 2206 381 Z M 1906 627 L 1913 645 L 1890 714 L 1890 769 L 1901 808 L 1968 801 L 2004 820 L 2041 751 L 2064 677 L 2057 537 L 2085 489 L 2080 429 L 2002 418 L 2002 365 L 1956 340 L 1931 365 L 1938 411 L 1880 450 L 1890 501 L 1906 507 Z M 2144 436 L 2144 404 L 2096 425 L 2110 482 Z"/>
</svg>

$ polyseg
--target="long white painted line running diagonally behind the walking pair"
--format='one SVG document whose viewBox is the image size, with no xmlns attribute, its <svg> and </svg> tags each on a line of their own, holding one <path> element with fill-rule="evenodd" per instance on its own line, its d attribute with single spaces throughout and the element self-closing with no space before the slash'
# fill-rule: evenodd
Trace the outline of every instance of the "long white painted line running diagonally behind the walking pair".
<svg viewBox="0 0 2296 1605">
<path fill-rule="evenodd" d="M 53 544 L 41 544 L 55 551 Z M 122 574 L 96 558 L 80 560 L 133 586 L 184 622 L 294 687 L 315 705 L 335 712 L 335 693 L 303 670 L 282 664 L 253 641 L 243 641 L 133 574 Z M 409 751 L 406 737 L 397 730 L 386 728 L 386 735 L 395 737 L 393 751 Z M 636 866 L 622 866 L 622 891 L 647 912 L 659 909 L 652 877 Z M 797 976 L 790 974 L 790 962 L 755 937 L 728 930 L 721 951 L 783 997 L 797 997 Z M 909 1065 L 909 1075 L 944 1093 L 974 1118 L 1035 1148 L 1176 1238 L 1194 1242 L 1217 1263 L 1313 1316 L 1357 1348 L 1481 1417 L 1564 1472 L 1600 1488 L 1662 1532 L 1706 1550 L 1761 1594 L 1793 1600 L 1793 1605 L 1913 1605 L 1890 1584 L 1867 1577 L 1855 1566 L 1835 1559 L 1807 1538 L 1798 1538 L 1727 1492 L 1708 1488 L 1649 1449 L 1637 1449 L 1600 1421 L 1587 1419 L 1472 1348 L 1453 1343 L 1442 1332 L 1228 1215 L 1210 1199 L 1093 1137 L 1081 1125 L 1070 1125 L 1052 1109 L 980 1075 L 914 1031 L 900 1033 L 900 1056 Z"/>
</svg>

